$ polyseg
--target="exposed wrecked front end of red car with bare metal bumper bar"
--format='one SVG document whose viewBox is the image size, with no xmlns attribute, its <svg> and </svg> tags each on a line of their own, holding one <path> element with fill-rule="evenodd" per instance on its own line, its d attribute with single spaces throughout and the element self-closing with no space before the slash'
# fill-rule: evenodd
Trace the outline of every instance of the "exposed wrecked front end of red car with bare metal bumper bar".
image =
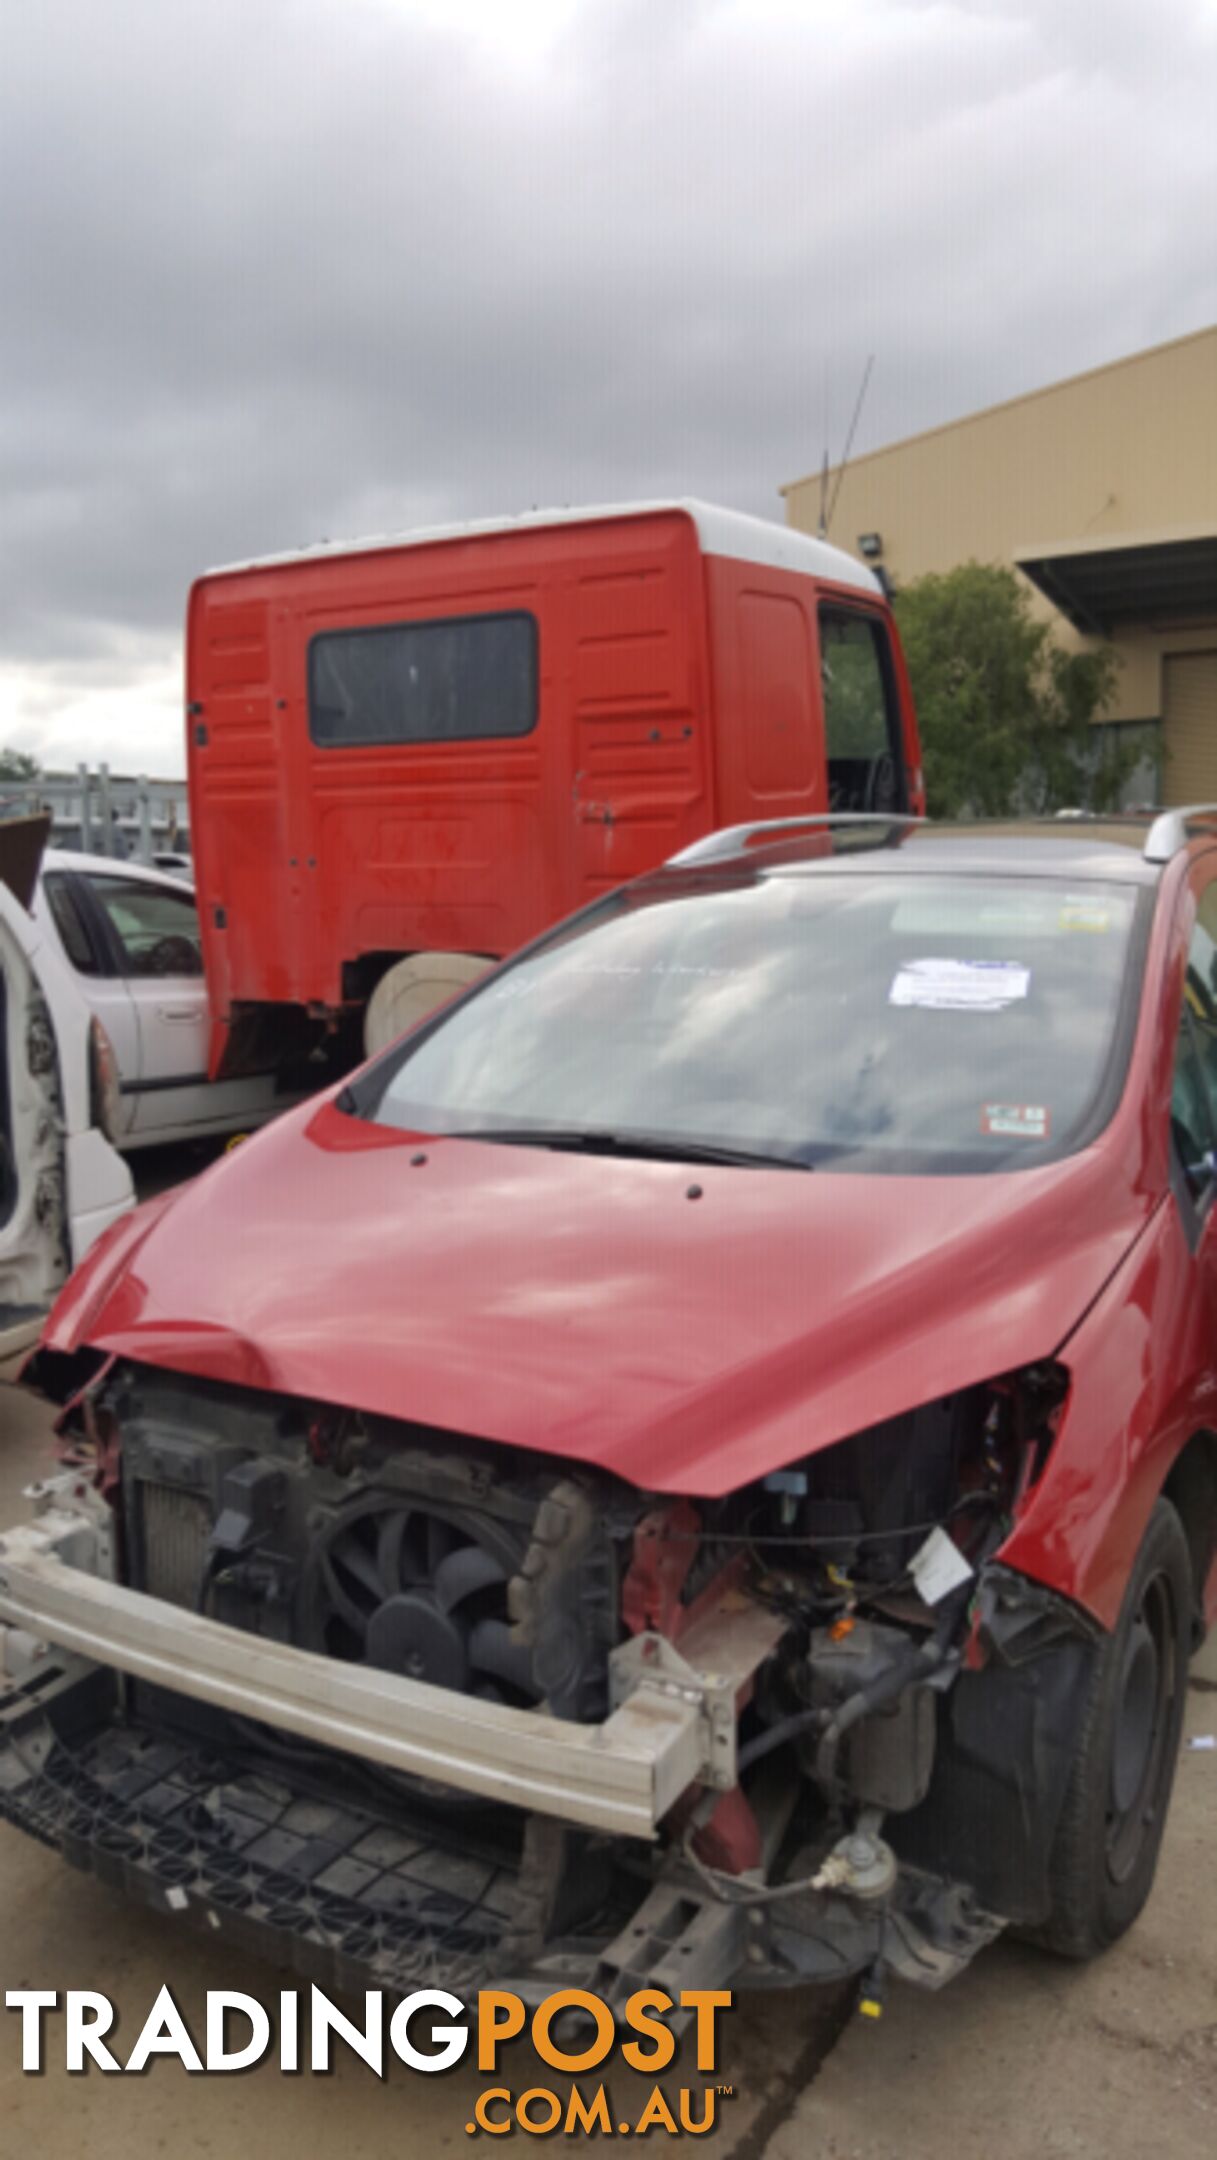
<svg viewBox="0 0 1217 2160">
<path fill-rule="evenodd" d="M 716 1501 L 45 1354 L 0 1812 L 322 1985 L 940 1985 L 1048 1912 L 1094 1629 L 1040 1365 Z"/>
</svg>

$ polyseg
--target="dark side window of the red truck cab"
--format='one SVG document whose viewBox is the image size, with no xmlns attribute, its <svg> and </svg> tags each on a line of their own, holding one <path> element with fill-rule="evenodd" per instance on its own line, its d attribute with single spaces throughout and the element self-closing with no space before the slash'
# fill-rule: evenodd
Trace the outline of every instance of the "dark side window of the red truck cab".
<svg viewBox="0 0 1217 2160">
<path fill-rule="evenodd" d="M 819 611 L 819 674 L 832 810 L 904 810 L 904 750 L 886 633 L 871 616 Z"/>
</svg>

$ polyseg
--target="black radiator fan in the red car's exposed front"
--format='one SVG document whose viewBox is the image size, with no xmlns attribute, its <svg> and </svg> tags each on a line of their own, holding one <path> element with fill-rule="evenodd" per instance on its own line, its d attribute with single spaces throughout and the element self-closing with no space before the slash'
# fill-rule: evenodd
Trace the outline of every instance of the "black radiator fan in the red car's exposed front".
<svg viewBox="0 0 1217 2160">
<path fill-rule="evenodd" d="M 372 1495 L 313 1544 L 303 1601 L 311 1644 L 484 1702 L 534 1704 L 532 1650 L 508 1622 L 525 1542 L 484 1516 Z"/>
</svg>

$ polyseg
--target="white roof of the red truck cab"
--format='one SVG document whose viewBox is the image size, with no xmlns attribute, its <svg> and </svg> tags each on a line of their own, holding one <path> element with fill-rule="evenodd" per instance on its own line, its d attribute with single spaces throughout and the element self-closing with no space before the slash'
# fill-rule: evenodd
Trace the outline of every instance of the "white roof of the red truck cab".
<svg viewBox="0 0 1217 2160">
<path fill-rule="evenodd" d="M 489 534 L 536 531 L 547 525 L 601 525 L 605 518 L 644 518 L 664 510 L 681 510 L 696 525 L 703 553 L 726 555 L 731 562 L 754 562 L 774 570 L 802 570 L 858 592 L 882 594 L 873 570 L 828 540 L 813 540 L 791 525 L 754 518 L 744 510 L 720 510 L 692 497 L 657 503 L 597 503 L 577 510 L 527 510 L 517 518 L 469 518 L 463 525 L 424 525 L 406 534 L 372 534 L 359 540 L 318 540 L 313 546 L 287 549 L 281 555 L 253 555 L 249 562 L 220 564 L 205 577 L 233 570 L 275 570 L 290 562 L 316 562 L 324 555 L 370 555 L 378 549 L 430 546 L 437 540 L 480 540 Z"/>
</svg>

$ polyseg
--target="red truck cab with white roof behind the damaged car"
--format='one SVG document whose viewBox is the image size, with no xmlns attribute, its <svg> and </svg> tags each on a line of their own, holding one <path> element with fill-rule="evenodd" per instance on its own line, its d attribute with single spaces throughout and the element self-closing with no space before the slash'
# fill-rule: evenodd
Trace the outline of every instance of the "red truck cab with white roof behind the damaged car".
<svg viewBox="0 0 1217 2160">
<path fill-rule="evenodd" d="M 499 957 L 718 825 L 921 810 L 878 579 L 700 503 L 313 549 L 190 594 L 212 1074 Z M 826 665 L 828 663 L 828 665 Z"/>
</svg>

